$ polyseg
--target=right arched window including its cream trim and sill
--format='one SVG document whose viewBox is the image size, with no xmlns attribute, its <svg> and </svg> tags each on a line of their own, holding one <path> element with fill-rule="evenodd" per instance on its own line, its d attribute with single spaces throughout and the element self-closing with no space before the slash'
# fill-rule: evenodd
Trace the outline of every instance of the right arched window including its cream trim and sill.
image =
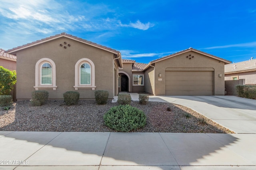
<svg viewBox="0 0 256 170">
<path fill-rule="evenodd" d="M 91 88 L 95 90 L 95 66 L 90 59 L 80 59 L 75 65 L 75 90 Z"/>
</svg>

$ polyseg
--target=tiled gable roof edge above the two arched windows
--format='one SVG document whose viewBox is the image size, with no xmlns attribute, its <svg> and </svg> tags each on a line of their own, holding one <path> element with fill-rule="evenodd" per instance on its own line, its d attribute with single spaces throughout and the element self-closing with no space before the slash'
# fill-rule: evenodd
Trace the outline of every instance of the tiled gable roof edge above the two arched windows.
<svg viewBox="0 0 256 170">
<path fill-rule="evenodd" d="M 26 49 L 28 47 L 32 47 L 32 46 L 35 46 L 35 45 L 38 45 L 38 44 L 42 44 L 42 43 L 45 43 L 47 41 L 51 41 L 53 39 L 57 39 L 57 38 L 60 38 L 60 37 L 67 37 L 67 38 L 73 39 L 75 41 L 79 41 L 81 43 L 84 43 L 84 44 L 87 44 L 87 45 L 91 45 L 93 47 L 96 47 L 96 48 L 108 51 L 110 53 L 113 53 L 115 55 L 115 58 L 118 58 L 118 60 L 117 60 L 118 66 L 122 67 L 122 57 L 121 57 L 121 53 L 119 51 L 116 51 L 114 49 L 111 49 L 111 48 L 108 48 L 108 47 L 105 47 L 105 46 L 93 43 L 91 41 L 87 41 L 86 39 L 78 38 L 76 36 L 73 36 L 73 35 L 70 35 L 70 34 L 67 34 L 67 33 L 56 34 L 56 35 L 53 35 L 53 36 L 50 36 L 50 37 L 46 37 L 44 39 L 40 39 L 40 40 L 34 41 L 32 43 L 28 43 L 28 44 L 25 44 L 25 45 L 22 45 L 22 46 L 18 46 L 18 47 L 15 47 L 13 49 L 7 50 L 6 53 L 15 54 L 16 51 L 20 51 L 22 49 Z"/>
</svg>

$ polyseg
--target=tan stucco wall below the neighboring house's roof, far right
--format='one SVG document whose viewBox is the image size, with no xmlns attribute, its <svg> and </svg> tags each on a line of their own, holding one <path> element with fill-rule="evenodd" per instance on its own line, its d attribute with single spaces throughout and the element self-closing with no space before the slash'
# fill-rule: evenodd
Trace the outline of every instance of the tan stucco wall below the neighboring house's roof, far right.
<svg viewBox="0 0 256 170">
<path fill-rule="evenodd" d="M 238 76 L 238 79 L 245 79 L 245 84 L 256 84 L 256 71 L 225 74 L 225 80 L 232 80 L 234 76 Z"/>
</svg>

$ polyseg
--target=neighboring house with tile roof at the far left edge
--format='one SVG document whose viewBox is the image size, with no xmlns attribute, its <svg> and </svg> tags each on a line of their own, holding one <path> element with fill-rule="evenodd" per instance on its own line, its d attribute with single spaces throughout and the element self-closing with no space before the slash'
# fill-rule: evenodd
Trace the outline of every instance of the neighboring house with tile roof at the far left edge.
<svg viewBox="0 0 256 170">
<path fill-rule="evenodd" d="M 16 56 L 7 54 L 3 49 L 0 49 L 0 66 L 8 70 L 16 70 Z"/>
</svg>

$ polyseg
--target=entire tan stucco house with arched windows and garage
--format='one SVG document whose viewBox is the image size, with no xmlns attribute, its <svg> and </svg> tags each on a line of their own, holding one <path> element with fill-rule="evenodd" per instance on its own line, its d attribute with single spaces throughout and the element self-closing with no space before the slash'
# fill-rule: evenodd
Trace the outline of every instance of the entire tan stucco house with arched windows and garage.
<svg viewBox="0 0 256 170">
<path fill-rule="evenodd" d="M 6 51 L 17 56 L 17 100 L 47 90 L 50 99 L 78 91 L 148 92 L 154 95 L 224 95 L 224 65 L 230 61 L 189 48 L 148 64 L 122 59 L 114 49 L 61 33 Z"/>
</svg>

